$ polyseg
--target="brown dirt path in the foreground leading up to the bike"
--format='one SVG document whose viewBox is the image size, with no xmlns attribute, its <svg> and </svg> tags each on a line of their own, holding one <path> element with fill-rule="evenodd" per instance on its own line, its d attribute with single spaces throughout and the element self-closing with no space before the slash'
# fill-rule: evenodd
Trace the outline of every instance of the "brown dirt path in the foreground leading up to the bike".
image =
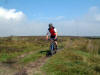
<svg viewBox="0 0 100 75">
<path fill-rule="evenodd" d="M 41 71 L 41 67 L 46 63 L 48 57 L 42 57 L 35 62 L 31 62 L 21 69 L 15 75 L 46 75 L 45 72 Z"/>
</svg>

